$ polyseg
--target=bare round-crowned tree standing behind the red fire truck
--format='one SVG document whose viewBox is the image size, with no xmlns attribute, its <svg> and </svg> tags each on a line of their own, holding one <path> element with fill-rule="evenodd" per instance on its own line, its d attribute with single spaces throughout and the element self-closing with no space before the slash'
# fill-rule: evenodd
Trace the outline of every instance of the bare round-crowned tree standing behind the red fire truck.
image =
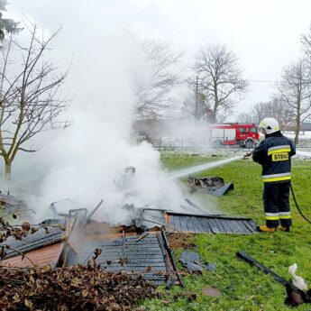
<svg viewBox="0 0 311 311">
<path fill-rule="evenodd" d="M 236 100 L 246 91 L 239 59 L 225 45 L 210 45 L 197 52 L 193 69 L 199 91 L 206 95 L 206 108 L 211 109 L 210 122 L 215 122 L 222 110 L 230 112 Z"/>
</svg>

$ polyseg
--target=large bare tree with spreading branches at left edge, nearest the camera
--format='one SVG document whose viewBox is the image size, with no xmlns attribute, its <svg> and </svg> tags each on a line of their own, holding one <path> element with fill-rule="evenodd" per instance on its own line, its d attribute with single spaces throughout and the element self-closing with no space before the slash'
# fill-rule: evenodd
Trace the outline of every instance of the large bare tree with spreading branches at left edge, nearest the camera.
<svg viewBox="0 0 311 311">
<path fill-rule="evenodd" d="M 29 147 L 32 138 L 59 124 L 59 114 L 69 105 L 59 93 L 68 71 L 59 73 L 45 56 L 50 41 L 59 31 L 43 40 L 39 39 L 42 33 L 38 25 L 32 24 L 27 30 L 30 34 L 27 46 L 11 36 L 1 61 L 0 155 L 5 160 L 6 178 L 11 178 L 11 166 L 18 151 L 35 151 Z M 16 55 L 21 55 L 21 59 L 15 59 Z"/>
</svg>

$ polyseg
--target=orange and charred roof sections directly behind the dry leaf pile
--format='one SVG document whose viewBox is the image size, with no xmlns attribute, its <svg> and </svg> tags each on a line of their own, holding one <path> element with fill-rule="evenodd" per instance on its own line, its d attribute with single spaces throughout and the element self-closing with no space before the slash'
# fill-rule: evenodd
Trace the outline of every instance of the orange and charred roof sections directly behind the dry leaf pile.
<svg viewBox="0 0 311 311">
<path fill-rule="evenodd" d="M 131 227 L 112 227 L 88 219 L 84 210 L 71 212 L 66 221 L 49 219 L 39 226 L 23 223 L 20 228 L 3 222 L 3 233 L 14 234 L 17 240 L 9 236 L 9 241 L 4 240 L 0 244 L 2 265 L 65 268 L 87 264 L 91 254 L 95 254 L 102 270 L 142 273 L 144 279 L 155 285 L 166 284 L 169 287 L 178 284 L 169 244 L 160 228 L 148 231 L 134 224 Z"/>
</svg>

